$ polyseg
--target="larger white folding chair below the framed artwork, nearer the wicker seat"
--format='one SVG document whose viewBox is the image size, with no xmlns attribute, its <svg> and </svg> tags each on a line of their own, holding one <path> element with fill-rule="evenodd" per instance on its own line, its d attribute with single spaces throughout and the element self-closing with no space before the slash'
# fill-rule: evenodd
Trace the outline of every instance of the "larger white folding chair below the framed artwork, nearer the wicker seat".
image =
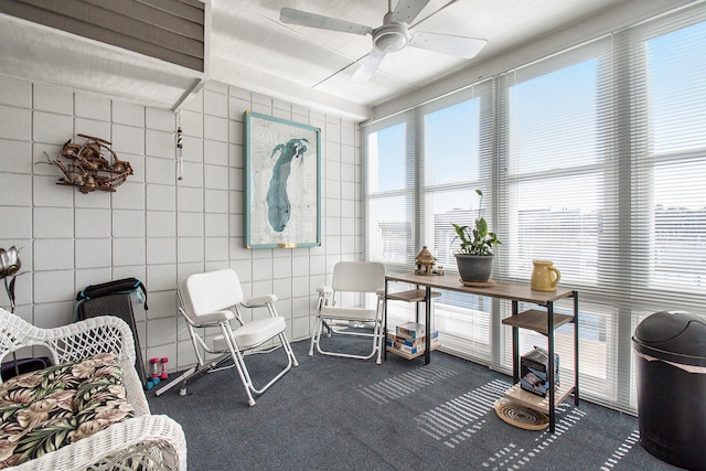
<svg viewBox="0 0 706 471">
<path fill-rule="evenodd" d="M 237 274 L 232 269 L 191 275 L 181 281 L 178 292 L 179 312 L 186 320 L 186 327 L 189 328 L 189 334 L 191 335 L 199 364 L 188 370 L 176 381 L 158 389 L 158 396 L 175 384 L 182 386 L 180 394 L 185 394 L 189 383 L 232 360 L 240 382 L 245 386 L 248 404 L 254 406 L 253 394 L 263 394 L 285 373 L 291 370 L 292 365 L 299 365 L 295 357 L 295 352 L 285 335 L 285 318 L 278 315 L 275 310 L 274 303 L 277 301 L 275 295 L 260 296 L 244 301 L 240 281 Z M 240 314 L 240 308 L 267 308 L 270 317 L 245 323 Z M 239 327 L 232 329 L 231 321 L 233 319 L 237 321 Z M 213 327 L 221 329 L 221 335 L 213 339 L 213 346 L 208 346 L 206 341 L 199 335 L 196 329 L 203 332 L 201 328 Z M 264 387 L 256 388 L 245 365 L 243 353 L 245 351 L 268 353 L 279 350 L 278 346 L 256 350 L 276 338 L 279 338 L 280 346 L 287 355 L 287 366 Z M 202 351 L 211 354 L 221 354 L 221 356 L 205 363 Z"/>
</svg>

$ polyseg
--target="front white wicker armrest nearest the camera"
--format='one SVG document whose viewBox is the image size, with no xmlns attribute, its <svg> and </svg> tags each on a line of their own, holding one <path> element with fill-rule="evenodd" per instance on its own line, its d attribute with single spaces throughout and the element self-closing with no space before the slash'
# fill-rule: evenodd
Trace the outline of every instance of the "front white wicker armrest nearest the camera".
<svg viewBox="0 0 706 471">
<path fill-rule="evenodd" d="M 138 465 L 137 463 L 141 464 Z M 114 424 L 13 471 L 186 470 L 186 439 L 167 416 L 142 416 Z"/>
</svg>

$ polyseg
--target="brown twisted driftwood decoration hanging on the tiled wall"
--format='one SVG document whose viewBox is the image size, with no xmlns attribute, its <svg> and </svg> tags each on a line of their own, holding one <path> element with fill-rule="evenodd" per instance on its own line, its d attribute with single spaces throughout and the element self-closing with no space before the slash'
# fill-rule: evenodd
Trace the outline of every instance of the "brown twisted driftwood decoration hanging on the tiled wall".
<svg viewBox="0 0 706 471">
<path fill-rule="evenodd" d="M 78 188 L 82 193 L 92 191 L 115 191 L 132 174 L 130 162 L 120 160 L 110 150 L 105 139 L 78 135 L 85 139 L 84 143 L 66 141 L 64 148 L 55 160 L 46 156 L 52 165 L 56 165 L 64 178 L 58 179 L 58 185 L 72 185 Z"/>
</svg>

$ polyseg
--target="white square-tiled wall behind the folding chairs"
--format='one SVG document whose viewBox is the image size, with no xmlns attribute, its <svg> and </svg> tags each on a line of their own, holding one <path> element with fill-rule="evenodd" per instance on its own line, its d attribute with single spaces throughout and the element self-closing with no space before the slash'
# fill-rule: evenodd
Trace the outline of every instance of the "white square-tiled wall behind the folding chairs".
<svg viewBox="0 0 706 471">
<path fill-rule="evenodd" d="M 322 247 L 244 247 L 248 109 L 321 127 Z M 56 184 L 63 176 L 56 167 L 35 164 L 78 133 L 113 142 L 132 165 L 135 174 L 115 193 L 82 194 Z M 169 357 L 170 372 L 195 362 L 175 291 L 193 272 L 234 268 L 246 296 L 278 296 L 292 340 L 309 336 L 315 288 L 330 281 L 335 261 L 362 256 L 361 174 L 355 122 L 248 90 L 207 84 L 173 113 L 0 77 L 0 220 L 11 222 L 0 225 L 0 247 L 22 247 L 18 312 L 41 327 L 65 324 L 84 287 L 139 278 L 149 292 L 149 311 L 136 312 L 143 357 Z"/>
</svg>

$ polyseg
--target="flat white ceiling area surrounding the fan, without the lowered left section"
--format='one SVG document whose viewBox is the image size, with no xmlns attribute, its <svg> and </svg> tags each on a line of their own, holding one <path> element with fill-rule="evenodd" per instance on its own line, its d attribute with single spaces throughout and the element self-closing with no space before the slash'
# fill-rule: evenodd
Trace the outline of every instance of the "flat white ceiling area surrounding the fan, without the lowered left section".
<svg viewBox="0 0 706 471">
<path fill-rule="evenodd" d="M 393 0 L 393 7 L 397 0 Z M 212 64 L 218 78 L 245 73 L 291 82 L 311 96 L 331 95 L 370 107 L 502 54 L 624 0 L 430 0 L 413 31 L 488 40 L 473 60 L 406 47 L 387 54 L 367 83 L 351 76 L 372 49 L 371 36 L 284 24 L 284 7 L 377 28 L 387 0 L 213 0 Z M 266 77 L 266 78 L 271 78 Z M 271 82 L 277 82 L 272 79 Z M 296 87 L 296 88 L 298 88 Z M 355 107 L 351 107 L 355 108 Z"/>
</svg>

